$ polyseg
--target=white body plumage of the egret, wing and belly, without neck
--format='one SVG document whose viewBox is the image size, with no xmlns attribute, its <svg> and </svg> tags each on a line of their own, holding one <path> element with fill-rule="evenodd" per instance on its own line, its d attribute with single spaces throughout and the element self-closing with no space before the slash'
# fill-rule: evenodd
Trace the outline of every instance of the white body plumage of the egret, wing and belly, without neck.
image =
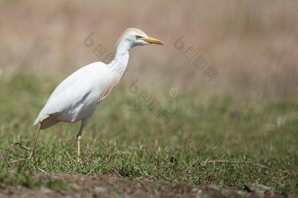
<svg viewBox="0 0 298 198">
<path fill-rule="evenodd" d="M 115 72 L 101 62 L 77 70 L 55 88 L 34 125 L 45 115 L 55 115 L 57 122 L 82 120 L 93 113 L 93 103 L 115 75 Z"/>
</svg>

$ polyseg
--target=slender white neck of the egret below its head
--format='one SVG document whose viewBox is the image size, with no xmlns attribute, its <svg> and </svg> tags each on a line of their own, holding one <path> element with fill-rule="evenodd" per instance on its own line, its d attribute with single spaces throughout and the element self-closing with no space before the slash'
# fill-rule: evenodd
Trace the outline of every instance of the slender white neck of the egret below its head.
<svg viewBox="0 0 298 198">
<path fill-rule="evenodd" d="M 123 76 L 129 59 L 129 51 L 133 45 L 127 41 L 121 41 L 116 48 L 116 55 L 112 62 L 108 64 L 109 68 L 113 69 L 121 77 Z"/>
</svg>

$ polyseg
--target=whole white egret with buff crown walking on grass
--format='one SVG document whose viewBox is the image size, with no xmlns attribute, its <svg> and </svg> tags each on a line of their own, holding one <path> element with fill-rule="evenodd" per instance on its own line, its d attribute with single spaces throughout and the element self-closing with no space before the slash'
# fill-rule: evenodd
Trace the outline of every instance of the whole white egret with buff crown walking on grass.
<svg viewBox="0 0 298 198">
<path fill-rule="evenodd" d="M 29 150 L 30 156 L 33 156 L 41 129 L 49 128 L 59 122 L 81 121 L 77 134 L 77 154 L 80 157 L 82 132 L 96 109 L 94 104 L 99 104 L 123 77 L 128 65 L 129 50 L 134 46 L 148 44 L 164 43 L 148 37 L 140 29 L 128 28 L 115 45 L 116 55 L 113 61 L 109 64 L 95 62 L 68 76 L 55 88 L 37 116 L 34 122 L 37 128 L 32 147 L 21 145 L 21 148 Z"/>
</svg>

